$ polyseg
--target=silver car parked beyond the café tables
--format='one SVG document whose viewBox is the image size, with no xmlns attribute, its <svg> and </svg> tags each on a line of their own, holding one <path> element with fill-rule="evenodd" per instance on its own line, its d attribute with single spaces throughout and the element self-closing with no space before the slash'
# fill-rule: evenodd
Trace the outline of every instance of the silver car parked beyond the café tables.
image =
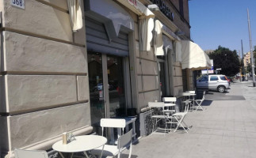
<svg viewBox="0 0 256 158">
<path fill-rule="evenodd" d="M 223 74 L 204 75 L 197 80 L 197 88 L 225 92 L 229 88 L 229 83 Z"/>
</svg>

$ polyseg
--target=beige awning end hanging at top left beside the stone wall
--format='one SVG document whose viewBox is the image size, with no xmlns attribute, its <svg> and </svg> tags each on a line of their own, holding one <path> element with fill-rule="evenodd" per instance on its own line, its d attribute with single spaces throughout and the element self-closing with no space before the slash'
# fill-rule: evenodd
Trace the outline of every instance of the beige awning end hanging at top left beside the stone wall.
<svg viewBox="0 0 256 158">
<path fill-rule="evenodd" d="M 71 28 L 73 32 L 82 28 L 82 9 L 80 0 L 67 0 Z"/>
</svg>

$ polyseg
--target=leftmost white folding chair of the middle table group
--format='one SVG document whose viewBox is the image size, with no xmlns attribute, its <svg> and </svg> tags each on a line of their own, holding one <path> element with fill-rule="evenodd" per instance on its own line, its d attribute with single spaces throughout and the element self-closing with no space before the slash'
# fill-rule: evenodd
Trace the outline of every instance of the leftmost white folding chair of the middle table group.
<svg viewBox="0 0 256 158">
<path fill-rule="evenodd" d="M 156 114 L 156 115 L 151 115 L 151 119 L 155 119 L 155 124 L 153 124 L 153 129 L 152 129 L 152 133 L 155 131 L 155 132 L 158 132 L 158 131 L 162 131 L 162 130 L 166 130 L 165 129 L 162 129 L 162 128 L 156 128 L 155 127 L 157 126 L 157 124 L 161 121 L 161 120 L 164 120 L 166 119 L 166 115 L 164 115 L 164 113 L 162 112 L 164 110 L 164 102 L 148 102 L 148 107 L 150 107 L 150 109 L 152 108 L 158 108 L 159 109 L 159 114 Z M 165 122 L 166 123 L 166 122 Z M 166 124 L 165 124 L 166 126 Z M 165 131 L 166 132 L 166 131 Z"/>
</svg>

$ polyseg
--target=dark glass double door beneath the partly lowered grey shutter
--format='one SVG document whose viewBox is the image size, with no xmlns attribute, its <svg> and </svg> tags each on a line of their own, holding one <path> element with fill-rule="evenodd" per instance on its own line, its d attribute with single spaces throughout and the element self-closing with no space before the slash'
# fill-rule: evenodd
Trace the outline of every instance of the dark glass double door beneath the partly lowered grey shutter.
<svg viewBox="0 0 256 158">
<path fill-rule="evenodd" d="M 92 126 L 97 128 L 102 118 L 124 116 L 124 58 L 88 51 L 88 73 Z"/>
</svg>

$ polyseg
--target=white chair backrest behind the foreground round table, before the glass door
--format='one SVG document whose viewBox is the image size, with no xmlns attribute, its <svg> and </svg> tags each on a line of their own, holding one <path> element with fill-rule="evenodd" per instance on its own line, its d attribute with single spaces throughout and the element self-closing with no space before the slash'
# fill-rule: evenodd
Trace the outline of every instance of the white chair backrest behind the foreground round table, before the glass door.
<svg viewBox="0 0 256 158">
<path fill-rule="evenodd" d="M 104 127 L 121 128 L 122 134 L 124 134 L 125 126 L 125 119 L 101 119 L 102 135 L 104 134 Z"/>
</svg>

